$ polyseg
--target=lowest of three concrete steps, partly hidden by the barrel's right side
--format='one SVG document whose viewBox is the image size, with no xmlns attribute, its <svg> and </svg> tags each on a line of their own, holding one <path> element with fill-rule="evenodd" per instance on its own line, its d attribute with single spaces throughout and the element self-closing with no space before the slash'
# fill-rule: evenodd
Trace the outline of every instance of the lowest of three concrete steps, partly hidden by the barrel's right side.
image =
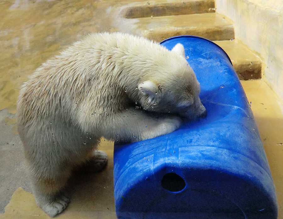
<svg viewBox="0 0 283 219">
<path fill-rule="evenodd" d="M 230 57 L 240 80 L 261 78 L 261 59 L 237 40 L 214 41 Z"/>
</svg>

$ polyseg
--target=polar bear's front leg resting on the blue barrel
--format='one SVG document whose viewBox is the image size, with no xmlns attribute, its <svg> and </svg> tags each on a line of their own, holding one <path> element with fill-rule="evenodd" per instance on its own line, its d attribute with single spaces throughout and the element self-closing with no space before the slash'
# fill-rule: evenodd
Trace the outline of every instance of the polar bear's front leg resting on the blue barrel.
<svg viewBox="0 0 283 219">
<path fill-rule="evenodd" d="M 168 134 L 180 127 L 181 118 L 164 114 L 154 117 L 134 107 L 108 116 L 104 137 L 108 140 L 134 142 Z"/>
</svg>

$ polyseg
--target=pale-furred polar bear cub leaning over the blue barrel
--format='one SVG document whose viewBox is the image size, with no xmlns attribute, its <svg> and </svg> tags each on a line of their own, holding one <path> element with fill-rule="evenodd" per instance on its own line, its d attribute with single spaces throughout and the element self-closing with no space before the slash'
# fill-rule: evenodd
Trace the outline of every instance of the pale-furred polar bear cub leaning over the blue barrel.
<svg viewBox="0 0 283 219">
<path fill-rule="evenodd" d="M 69 202 L 72 170 L 107 162 L 98 140 L 133 142 L 205 114 L 184 47 L 172 51 L 122 33 L 95 33 L 36 69 L 23 85 L 18 131 L 36 204 L 49 216 Z M 87 167 L 86 167 L 87 168 Z"/>
</svg>

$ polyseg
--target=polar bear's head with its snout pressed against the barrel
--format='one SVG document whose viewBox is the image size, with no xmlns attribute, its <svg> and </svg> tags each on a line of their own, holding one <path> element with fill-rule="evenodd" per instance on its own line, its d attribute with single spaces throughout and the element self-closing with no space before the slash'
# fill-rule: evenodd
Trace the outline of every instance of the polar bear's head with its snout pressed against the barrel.
<svg viewBox="0 0 283 219">
<path fill-rule="evenodd" d="M 147 111 L 176 113 L 194 119 L 206 116 L 206 109 L 200 101 L 200 85 L 192 68 L 188 65 L 185 50 L 177 44 L 165 60 L 162 74 L 138 85 L 140 104 Z"/>
</svg>

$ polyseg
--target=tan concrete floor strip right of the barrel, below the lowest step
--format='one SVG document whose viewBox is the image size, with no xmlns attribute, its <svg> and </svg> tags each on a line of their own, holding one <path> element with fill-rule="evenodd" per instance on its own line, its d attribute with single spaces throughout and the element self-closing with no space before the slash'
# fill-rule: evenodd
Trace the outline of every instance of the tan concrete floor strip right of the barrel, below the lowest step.
<svg viewBox="0 0 283 219">
<path fill-rule="evenodd" d="M 241 81 L 258 125 L 283 219 L 283 102 L 263 80 Z"/>
</svg>

